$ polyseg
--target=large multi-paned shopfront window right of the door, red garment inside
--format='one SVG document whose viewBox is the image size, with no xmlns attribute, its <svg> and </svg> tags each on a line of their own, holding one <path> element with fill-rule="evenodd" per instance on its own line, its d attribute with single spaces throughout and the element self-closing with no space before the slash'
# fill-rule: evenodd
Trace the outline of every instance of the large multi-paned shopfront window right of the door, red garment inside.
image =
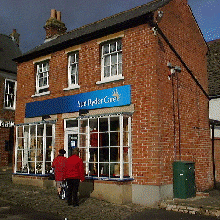
<svg viewBox="0 0 220 220">
<path fill-rule="evenodd" d="M 78 124 L 75 132 L 78 135 L 77 146 L 88 177 L 124 179 L 132 176 L 130 116 L 67 119 L 68 133 L 70 124 Z"/>
</svg>

